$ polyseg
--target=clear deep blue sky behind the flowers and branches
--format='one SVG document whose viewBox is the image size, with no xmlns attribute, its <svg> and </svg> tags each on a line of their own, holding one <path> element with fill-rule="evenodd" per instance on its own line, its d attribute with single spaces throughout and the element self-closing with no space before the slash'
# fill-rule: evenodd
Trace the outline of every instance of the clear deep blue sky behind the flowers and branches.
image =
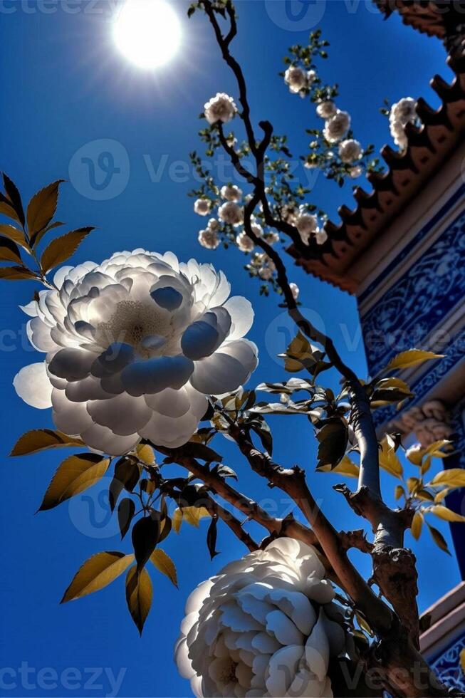
<svg viewBox="0 0 465 698">
<path fill-rule="evenodd" d="M 299 11 L 301 3 L 295 5 Z M 70 227 L 98 226 L 75 254 L 75 263 L 99 261 L 118 249 L 142 246 L 160 252 L 171 249 L 181 259 L 195 256 L 224 269 L 233 291 L 250 298 L 256 309 L 250 336 L 261 348 L 261 363 L 252 380 L 281 380 L 284 372 L 276 354 L 291 338 L 282 309 L 273 296 L 268 300 L 258 296 L 258 284 L 242 270 L 244 257 L 237 251 L 209 252 L 198 246 L 200 219 L 187 198 L 194 184 L 187 154 L 198 147 L 198 114 L 216 91 L 236 95 L 231 75 L 221 63 L 206 22 L 196 15 L 188 23 L 183 3 L 174 3 L 184 31 L 177 58 L 152 75 L 131 68 L 111 41 L 112 6 L 115 3 L 109 0 L 68 0 L 65 11 L 65 6 L 50 0 L 0 2 L 0 169 L 18 184 L 24 199 L 48 182 L 70 179 L 63 185 L 59 219 Z M 70 8 L 77 10 L 70 14 Z M 450 79 L 439 41 L 402 26 L 397 17 L 383 22 L 368 1 L 310 2 L 303 19 L 294 22 L 286 19 L 281 0 L 243 0 L 238 9 L 239 37 L 233 48 L 249 83 L 253 118 L 268 118 L 276 132 L 288 132 L 291 152 L 296 154 L 305 152 L 308 138 L 303 130 L 315 125 L 315 117 L 306 101 L 288 93 L 277 73 L 286 48 L 303 43 L 308 29 L 317 24 L 331 44 L 330 60 L 321 67 L 323 79 L 340 83 L 338 105 L 351 113 L 356 135 L 377 148 L 389 140 L 387 122 L 378 110 L 384 98 L 392 102 L 422 95 L 436 105 L 429 79 L 437 72 Z M 73 156 L 80 151 L 95 160 L 108 148 L 121 173 L 108 190 L 95 194 Z M 298 174 L 306 176 L 303 170 Z M 335 217 L 341 203 L 350 204 L 351 192 L 320 177 L 312 200 Z M 347 342 L 357 338 L 354 298 L 297 269 L 291 270 L 291 278 L 301 287 L 303 308 L 333 335 L 345 359 L 364 375 L 360 341 L 355 350 L 349 350 Z M 104 501 L 108 479 L 78 501 L 35 516 L 64 454 L 7 458 L 26 429 L 51 426 L 48 412 L 23 404 L 11 385 L 19 368 L 36 360 L 18 308 L 32 292 L 28 283 L 4 282 L 0 301 L 5 569 L 0 583 L 0 665 L 6 668 L 0 694 L 100 696 L 110 694 L 120 678 L 122 697 L 188 695 L 189 686 L 172 661 L 184 601 L 197 583 L 242 550 L 221 529 L 221 555 L 210 563 L 204 526 L 197 531 L 184 525 L 179 536 L 170 536 L 165 549 L 177 564 L 179 591 L 161 575 L 153 575 L 154 603 L 142 640 L 125 608 L 123 578 L 84 600 L 58 605 L 86 558 L 105 549 L 128 551 L 129 542 L 120 543 L 115 521 L 108 519 Z M 272 427 L 276 459 L 306 465 L 315 498 L 323 502 L 333 522 L 341 528 L 357 526 L 333 493 L 332 476 L 312 474 L 315 440 L 308 422 L 303 417 L 279 421 L 274 417 Z M 229 444 L 220 438 L 216 447 L 239 472 L 241 489 L 275 506 L 276 494 L 248 474 Z M 388 491 L 393 485 L 386 478 Z M 286 502 L 278 501 L 276 513 L 286 514 L 285 507 Z M 449 537 L 446 526 L 440 527 Z M 459 574 L 454 559 L 433 548 L 426 537 L 415 551 L 422 589 L 419 603 L 426 608 L 458 582 Z M 44 671 L 48 667 L 52 672 Z M 98 669 L 92 673 L 91 667 Z"/>
</svg>

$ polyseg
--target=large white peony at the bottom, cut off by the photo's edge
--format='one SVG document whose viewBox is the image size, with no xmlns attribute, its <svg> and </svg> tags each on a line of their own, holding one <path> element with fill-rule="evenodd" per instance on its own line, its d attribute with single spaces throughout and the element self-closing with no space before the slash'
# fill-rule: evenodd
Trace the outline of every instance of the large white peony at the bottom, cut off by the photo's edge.
<svg viewBox="0 0 465 698">
<path fill-rule="evenodd" d="M 333 696 L 343 613 L 314 548 L 278 538 L 200 584 L 175 646 L 196 696 Z"/>
</svg>

